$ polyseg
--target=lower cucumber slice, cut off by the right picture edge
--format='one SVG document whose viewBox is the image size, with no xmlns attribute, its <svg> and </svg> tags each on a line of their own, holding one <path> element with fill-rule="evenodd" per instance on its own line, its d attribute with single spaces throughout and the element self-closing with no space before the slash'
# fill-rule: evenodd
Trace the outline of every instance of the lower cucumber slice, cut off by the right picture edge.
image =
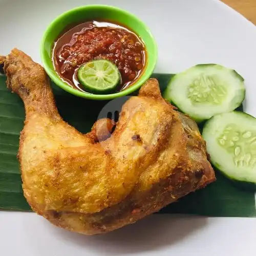
<svg viewBox="0 0 256 256">
<path fill-rule="evenodd" d="M 215 167 L 256 189 L 256 118 L 238 111 L 216 115 L 205 123 L 203 138 Z"/>
</svg>

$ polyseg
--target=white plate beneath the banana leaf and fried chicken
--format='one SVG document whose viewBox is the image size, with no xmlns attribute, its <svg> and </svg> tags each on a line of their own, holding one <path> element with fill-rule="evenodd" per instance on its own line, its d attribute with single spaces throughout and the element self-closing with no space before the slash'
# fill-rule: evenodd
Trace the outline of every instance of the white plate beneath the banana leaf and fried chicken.
<svg viewBox="0 0 256 256">
<path fill-rule="evenodd" d="M 214 0 L 0 0 L 0 54 L 17 47 L 40 62 L 39 42 L 58 14 L 86 4 L 127 9 L 151 28 L 157 72 L 220 63 L 246 79 L 246 112 L 256 116 L 256 27 Z M 210 200 L 210 198 L 209 198 Z M 3 256 L 255 255 L 256 219 L 150 216 L 103 236 L 86 237 L 22 212 L 0 211 Z"/>
</svg>

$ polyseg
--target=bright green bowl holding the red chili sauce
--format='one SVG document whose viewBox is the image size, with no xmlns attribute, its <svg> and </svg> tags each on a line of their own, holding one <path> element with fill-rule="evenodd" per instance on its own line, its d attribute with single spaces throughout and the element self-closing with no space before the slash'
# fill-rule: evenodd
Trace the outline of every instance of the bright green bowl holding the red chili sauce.
<svg viewBox="0 0 256 256">
<path fill-rule="evenodd" d="M 97 19 L 111 20 L 111 22 L 116 22 L 130 28 L 141 37 L 146 47 L 147 62 L 142 75 L 136 82 L 132 84 L 132 86 L 118 93 L 99 95 L 85 93 L 73 89 L 71 86 L 69 86 L 69 84 L 61 80 L 53 67 L 52 48 L 58 35 L 70 24 L 77 24 L 79 22 L 82 23 L 86 22 L 87 20 Z M 157 62 L 157 44 L 147 26 L 135 15 L 122 9 L 105 5 L 81 6 L 59 15 L 46 29 L 41 41 L 40 53 L 42 63 L 47 74 L 54 81 L 54 83 L 57 84 L 57 86 L 76 96 L 94 100 L 109 100 L 136 91 L 151 76 Z"/>
</svg>

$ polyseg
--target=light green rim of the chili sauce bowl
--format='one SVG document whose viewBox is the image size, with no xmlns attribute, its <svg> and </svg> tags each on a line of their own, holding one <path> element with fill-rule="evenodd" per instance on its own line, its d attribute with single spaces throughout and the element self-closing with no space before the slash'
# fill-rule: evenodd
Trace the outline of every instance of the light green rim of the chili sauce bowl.
<svg viewBox="0 0 256 256">
<path fill-rule="evenodd" d="M 80 9 L 90 9 L 90 8 L 106 8 L 106 9 L 109 9 L 109 10 L 112 10 L 112 11 L 115 10 L 115 11 L 123 12 L 127 16 L 130 16 L 131 18 L 135 19 L 136 22 L 140 23 L 140 25 L 145 29 L 145 31 L 148 33 L 148 35 L 151 38 L 153 49 L 154 49 L 154 54 L 150 58 L 151 59 L 151 65 L 148 66 L 146 64 L 146 67 L 144 68 L 144 71 L 142 73 L 142 75 L 144 73 L 148 73 L 148 75 L 145 76 L 145 77 L 139 77 L 138 80 L 135 81 L 135 83 L 132 84 L 131 87 L 129 87 L 129 88 L 127 88 L 127 89 L 125 89 L 125 90 L 123 90 L 121 92 L 113 93 L 113 94 L 90 94 L 90 93 L 85 93 L 85 92 L 78 91 L 78 90 L 73 89 L 72 87 L 70 87 L 67 83 L 63 82 L 61 80 L 61 78 L 59 77 L 59 75 L 57 74 L 57 72 L 48 66 L 47 59 L 49 59 L 49 57 L 47 56 L 47 54 L 45 54 L 44 48 L 45 48 L 46 37 L 48 36 L 49 31 L 51 31 L 54 28 L 55 24 L 60 19 L 63 19 L 66 15 L 69 15 L 70 13 L 76 12 L 76 11 L 78 11 Z M 63 90 L 65 90 L 65 91 L 67 91 L 67 92 L 69 92 L 69 93 L 71 93 L 71 94 L 73 94 L 75 96 L 82 97 L 82 98 L 94 99 L 94 100 L 109 100 L 109 99 L 114 99 L 114 98 L 117 98 L 117 97 L 125 96 L 127 94 L 131 94 L 134 91 L 138 90 L 142 86 L 142 84 L 145 83 L 148 78 L 150 78 L 151 74 L 153 73 L 154 68 L 156 66 L 156 63 L 157 63 L 158 51 L 157 51 L 156 40 L 153 37 L 150 29 L 136 15 L 134 15 L 134 14 L 132 14 L 132 13 L 126 11 L 126 10 L 120 9 L 118 7 L 114 7 L 114 6 L 108 6 L 108 5 L 86 5 L 86 6 L 79 6 L 79 7 L 73 8 L 73 9 L 71 9 L 69 11 L 66 11 L 66 12 L 62 13 L 59 16 L 57 16 L 50 23 L 50 25 L 47 27 L 47 29 L 46 29 L 46 31 L 44 33 L 44 36 L 42 37 L 42 40 L 41 40 L 40 55 L 41 55 L 42 63 L 44 65 L 44 68 L 45 68 L 47 74 L 50 76 L 50 78 L 53 80 L 53 82 L 56 83 L 57 86 L 59 86 Z"/>
</svg>

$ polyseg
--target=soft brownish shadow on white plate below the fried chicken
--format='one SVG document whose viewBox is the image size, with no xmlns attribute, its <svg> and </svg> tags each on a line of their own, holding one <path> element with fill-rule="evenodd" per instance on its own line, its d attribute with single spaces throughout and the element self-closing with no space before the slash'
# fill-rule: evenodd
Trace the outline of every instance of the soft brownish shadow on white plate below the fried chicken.
<svg viewBox="0 0 256 256">
<path fill-rule="evenodd" d="M 184 242 L 207 225 L 207 217 L 152 215 L 135 224 L 96 236 L 84 236 L 52 226 L 55 236 L 95 255 L 124 255 L 158 250 Z"/>
</svg>

